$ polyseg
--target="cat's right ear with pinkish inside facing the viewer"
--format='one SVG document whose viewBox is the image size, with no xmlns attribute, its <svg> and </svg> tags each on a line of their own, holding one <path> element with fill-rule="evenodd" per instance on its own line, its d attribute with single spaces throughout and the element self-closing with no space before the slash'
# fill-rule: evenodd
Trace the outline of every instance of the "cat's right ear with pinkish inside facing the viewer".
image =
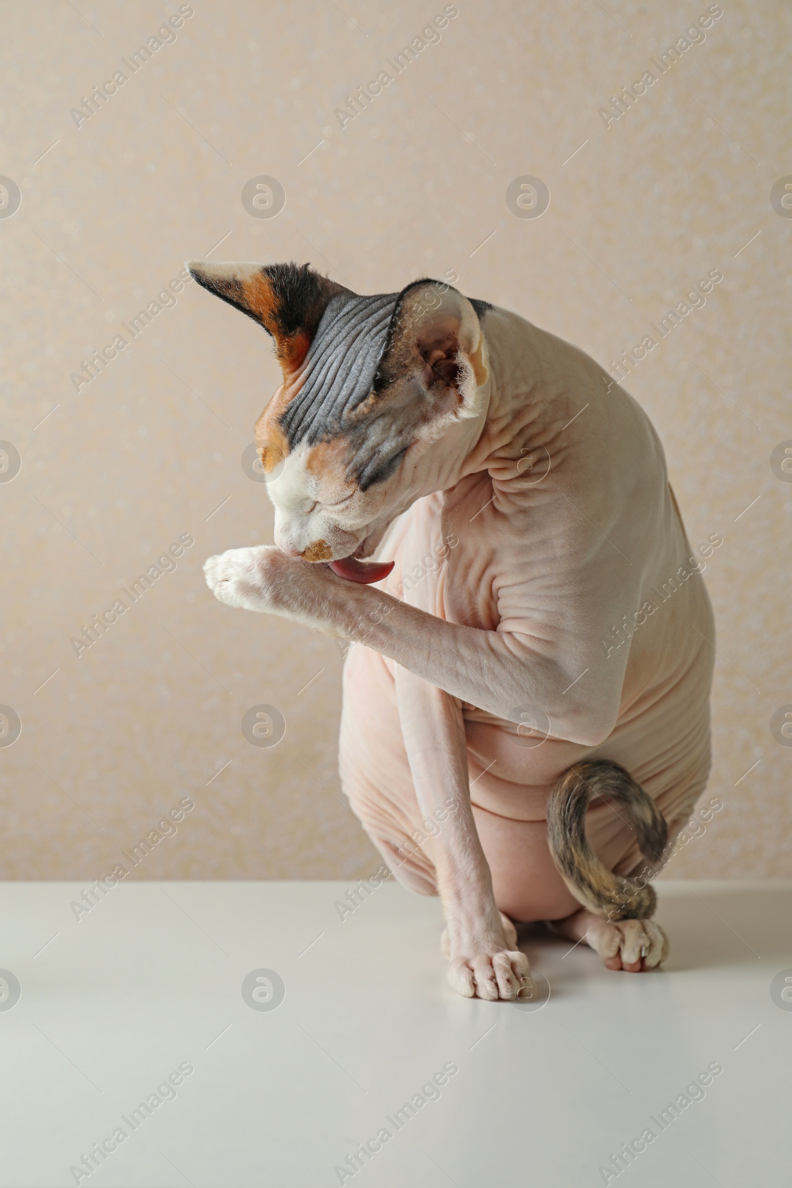
<svg viewBox="0 0 792 1188">
<path fill-rule="evenodd" d="M 488 378 L 486 345 L 473 304 L 456 289 L 423 280 L 403 293 L 380 367 L 380 386 L 411 371 L 429 392 L 445 387 L 473 411 L 475 391 Z"/>
</svg>

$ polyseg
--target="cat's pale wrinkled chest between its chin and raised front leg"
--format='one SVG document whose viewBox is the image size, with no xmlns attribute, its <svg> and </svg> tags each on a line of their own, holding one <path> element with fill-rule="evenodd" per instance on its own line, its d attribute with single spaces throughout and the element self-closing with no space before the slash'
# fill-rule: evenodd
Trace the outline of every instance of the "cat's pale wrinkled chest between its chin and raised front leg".
<svg viewBox="0 0 792 1188">
<path fill-rule="evenodd" d="M 413 504 L 394 542 L 399 576 L 388 588 L 449 623 L 493 631 L 502 543 L 493 532 L 492 499 L 492 481 L 483 474 Z"/>
</svg>

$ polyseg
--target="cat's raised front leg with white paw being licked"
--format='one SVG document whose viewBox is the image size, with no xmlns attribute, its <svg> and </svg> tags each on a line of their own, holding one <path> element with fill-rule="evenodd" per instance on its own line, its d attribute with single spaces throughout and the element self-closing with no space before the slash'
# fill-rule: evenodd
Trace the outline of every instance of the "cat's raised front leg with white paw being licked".
<svg viewBox="0 0 792 1188">
<path fill-rule="evenodd" d="M 587 746 L 597 746 L 615 725 L 626 661 L 622 668 L 600 665 L 602 681 L 591 697 L 581 666 L 587 672 L 587 661 L 595 663 L 598 636 L 581 624 L 555 647 L 525 632 L 465 627 L 271 545 L 229 549 L 203 568 L 221 602 L 365 644 L 498 718 L 514 721 L 514 706 L 541 706 L 555 734 Z"/>
</svg>

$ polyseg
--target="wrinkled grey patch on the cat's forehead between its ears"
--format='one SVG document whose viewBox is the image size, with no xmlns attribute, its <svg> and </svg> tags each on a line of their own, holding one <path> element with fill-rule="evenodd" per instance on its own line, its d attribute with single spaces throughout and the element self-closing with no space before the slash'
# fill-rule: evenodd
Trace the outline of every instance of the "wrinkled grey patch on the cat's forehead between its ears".
<svg viewBox="0 0 792 1188">
<path fill-rule="evenodd" d="M 305 356 L 305 377 L 280 417 L 293 449 L 341 430 L 344 413 L 369 396 L 400 293 L 336 293 Z"/>
</svg>

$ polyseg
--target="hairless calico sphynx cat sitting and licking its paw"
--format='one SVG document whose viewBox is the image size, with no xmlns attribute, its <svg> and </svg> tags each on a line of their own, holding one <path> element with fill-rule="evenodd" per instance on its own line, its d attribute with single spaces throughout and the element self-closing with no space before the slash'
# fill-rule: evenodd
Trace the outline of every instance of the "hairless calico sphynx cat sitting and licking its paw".
<svg viewBox="0 0 792 1188">
<path fill-rule="evenodd" d="M 355 645 L 342 784 L 439 896 L 451 986 L 532 994 L 513 921 L 657 967 L 648 880 L 707 783 L 714 626 L 648 417 L 582 350 L 437 282 L 188 267 L 283 368 L 255 430 L 274 546 L 210 557 L 207 582 Z"/>
</svg>

